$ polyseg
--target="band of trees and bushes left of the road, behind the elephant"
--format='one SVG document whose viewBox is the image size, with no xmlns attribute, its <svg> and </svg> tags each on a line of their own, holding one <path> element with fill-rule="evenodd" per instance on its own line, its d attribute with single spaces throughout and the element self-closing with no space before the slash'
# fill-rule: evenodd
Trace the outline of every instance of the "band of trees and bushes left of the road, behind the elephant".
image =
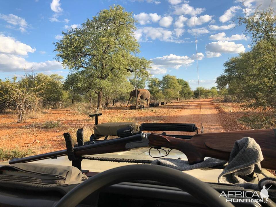
<svg viewBox="0 0 276 207">
<path fill-rule="evenodd" d="M 132 13 L 113 5 L 80 28 L 63 32 L 54 51 L 56 60 L 70 70 L 67 77 L 30 73 L 20 79 L 0 80 L 0 111 L 16 110 L 18 122 L 24 122 L 27 111 L 34 115 L 43 107 L 87 103 L 101 109 L 124 104 L 135 88 L 147 87 L 151 101 L 198 98 L 199 90 L 202 97 L 220 93 L 216 87 L 192 91 L 187 81 L 171 75 L 152 78 L 152 62 L 137 56 L 140 45 L 134 37 L 135 23 Z"/>
</svg>

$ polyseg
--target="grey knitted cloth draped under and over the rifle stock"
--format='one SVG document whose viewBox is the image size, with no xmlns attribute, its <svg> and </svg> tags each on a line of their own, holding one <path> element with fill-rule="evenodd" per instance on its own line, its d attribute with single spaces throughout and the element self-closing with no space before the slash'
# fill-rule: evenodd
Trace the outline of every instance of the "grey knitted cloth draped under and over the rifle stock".
<svg viewBox="0 0 276 207">
<path fill-rule="evenodd" d="M 261 173 L 260 162 L 263 160 L 262 151 L 256 141 L 250 137 L 244 137 L 235 141 L 234 147 L 230 154 L 228 165 L 218 177 L 219 183 L 247 183 L 238 176 L 246 176 L 251 173 Z M 190 165 L 188 161 L 177 159 L 158 159 L 152 164 L 163 165 L 177 170 L 202 169 L 210 170 L 211 167 L 225 165 L 227 161 L 208 158 L 203 162 Z"/>
</svg>

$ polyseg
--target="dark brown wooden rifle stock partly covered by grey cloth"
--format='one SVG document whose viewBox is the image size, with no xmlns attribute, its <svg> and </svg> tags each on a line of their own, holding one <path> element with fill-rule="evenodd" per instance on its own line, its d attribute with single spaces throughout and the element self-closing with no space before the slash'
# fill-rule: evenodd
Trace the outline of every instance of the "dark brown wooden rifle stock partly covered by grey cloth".
<svg viewBox="0 0 276 207">
<path fill-rule="evenodd" d="M 205 157 L 228 161 L 235 141 L 243 137 L 251 137 L 260 145 L 262 168 L 276 170 L 276 129 L 196 134 L 191 139 L 150 134 L 148 139 L 150 146 L 179 150 L 187 156 L 189 164 L 195 164 Z"/>
</svg>

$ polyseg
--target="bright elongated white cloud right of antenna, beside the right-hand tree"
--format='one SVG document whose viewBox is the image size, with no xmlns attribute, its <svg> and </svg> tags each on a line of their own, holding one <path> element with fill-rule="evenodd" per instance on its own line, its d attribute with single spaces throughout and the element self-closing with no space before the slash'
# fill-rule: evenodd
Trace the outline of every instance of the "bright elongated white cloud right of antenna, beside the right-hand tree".
<svg viewBox="0 0 276 207">
<path fill-rule="evenodd" d="M 245 51 L 245 47 L 242 44 L 236 44 L 229 41 L 218 41 L 208 43 L 206 45 L 206 51 L 213 53 L 240 53 Z"/>
</svg>

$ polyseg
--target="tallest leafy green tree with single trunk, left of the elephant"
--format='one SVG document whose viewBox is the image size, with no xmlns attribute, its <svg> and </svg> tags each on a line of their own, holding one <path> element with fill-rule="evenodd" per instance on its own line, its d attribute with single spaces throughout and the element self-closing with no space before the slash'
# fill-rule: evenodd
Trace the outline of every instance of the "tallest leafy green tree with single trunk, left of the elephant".
<svg viewBox="0 0 276 207">
<path fill-rule="evenodd" d="M 62 32 L 63 38 L 55 43 L 56 59 L 62 61 L 64 68 L 84 70 L 91 76 L 88 81 L 95 86 L 97 108 L 102 108 L 103 89 L 110 75 L 148 75 L 151 62 L 134 56 L 139 52 L 135 23 L 132 13 L 113 5 L 88 19 L 81 28 Z"/>
</svg>

